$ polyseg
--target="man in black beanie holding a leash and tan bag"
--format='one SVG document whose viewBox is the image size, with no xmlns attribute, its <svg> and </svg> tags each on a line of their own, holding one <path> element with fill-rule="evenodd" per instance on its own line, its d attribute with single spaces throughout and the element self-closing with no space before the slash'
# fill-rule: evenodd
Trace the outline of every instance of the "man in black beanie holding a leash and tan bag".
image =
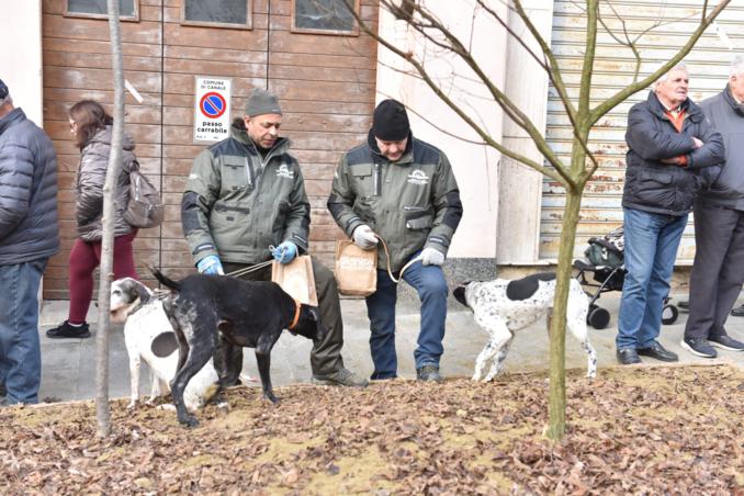
<svg viewBox="0 0 744 496">
<path fill-rule="evenodd" d="M 374 110 L 363 145 L 349 150 L 334 177 L 328 210 L 362 249 L 382 237 L 391 270 L 418 292 L 421 328 L 414 353 L 419 381 L 440 382 L 447 318 L 447 281 L 441 266 L 452 241 L 462 204 L 447 156 L 414 138 L 405 106 L 384 100 Z M 377 253 L 377 289 L 367 297 L 373 380 L 397 376 L 395 352 L 396 285 L 387 274 L 387 257 Z"/>
</svg>

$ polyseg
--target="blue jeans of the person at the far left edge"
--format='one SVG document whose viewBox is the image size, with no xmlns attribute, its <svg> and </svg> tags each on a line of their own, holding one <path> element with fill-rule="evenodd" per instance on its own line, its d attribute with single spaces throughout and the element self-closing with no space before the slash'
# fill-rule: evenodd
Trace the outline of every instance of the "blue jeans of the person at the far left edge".
<svg viewBox="0 0 744 496">
<path fill-rule="evenodd" d="M 0 382 L 13 403 L 38 403 L 38 283 L 47 259 L 0 266 Z"/>
</svg>

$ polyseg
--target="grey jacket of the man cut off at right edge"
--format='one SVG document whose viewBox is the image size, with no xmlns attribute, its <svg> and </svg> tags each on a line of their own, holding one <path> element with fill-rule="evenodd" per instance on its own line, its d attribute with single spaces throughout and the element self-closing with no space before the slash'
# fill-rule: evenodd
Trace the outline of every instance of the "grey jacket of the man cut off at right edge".
<svg viewBox="0 0 744 496">
<path fill-rule="evenodd" d="M 700 201 L 744 211 L 744 104 L 737 103 L 726 88 L 700 102 L 715 128 L 723 135 L 725 167 L 710 190 L 700 193 Z"/>
</svg>

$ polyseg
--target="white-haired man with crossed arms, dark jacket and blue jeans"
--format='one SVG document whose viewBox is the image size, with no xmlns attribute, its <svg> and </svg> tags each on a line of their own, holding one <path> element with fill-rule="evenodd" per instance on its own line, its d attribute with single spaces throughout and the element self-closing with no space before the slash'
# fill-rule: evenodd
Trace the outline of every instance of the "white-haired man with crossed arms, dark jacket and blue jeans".
<svg viewBox="0 0 744 496">
<path fill-rule="evenodd" d="M 723 138 L 688 97 L 689 74 L 678 65 L 662 76 L 628 114 L 628 156 L 622 194 L 625 281 L 617 358 L 677 361 L 657 340 L 664 298 L 687 215 L 723 161 Z"/>
</svg>

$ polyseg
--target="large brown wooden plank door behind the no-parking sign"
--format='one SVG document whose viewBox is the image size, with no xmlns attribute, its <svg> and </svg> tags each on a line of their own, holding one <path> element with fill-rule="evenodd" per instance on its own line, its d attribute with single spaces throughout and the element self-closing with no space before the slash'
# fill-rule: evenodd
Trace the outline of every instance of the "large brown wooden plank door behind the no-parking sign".
<svg viewBox="0 0 744 496">
<path fill-rule="evenodd" d="M 126 131 L 137 144 L 143 170 L 160 184 L 166 219 L 140 230 L 135 241 L 145 263 L 169 274 L 192 271 L 183 240 L 180 203 L 193 158 L 208 144 L 193 142 L 194 76 L 232 79 L 233 117 L 243 115 L 252 88 L 268 88 L 284 111 L 282 134 L 293 140 L 313 206 L 312 252 L 330 263 L 341 236 L 325 203 L 341 154 L 364 139 L 374 101 L 376 46 L 364 35 L 290 32 L 289 0 L 253 0 L 252 30 L 181 24 L 181 0 L 140 0 L 139 21 L 122 22 L 125 78 L 144 98 L 127 94 Z M 75 239 L 75 172 L 79 154 L 67 124 L 68 109 L 86 98 L 113 102 L 106 20 L 64 15 L 65 0 L 43 3 L 46 129 L 59 154 L 63 252 L 46 272 L 47 297 L 67 296 L 67 258 Z M 376 20 L 376 2 L 361 13 Z"/>
</svg>

